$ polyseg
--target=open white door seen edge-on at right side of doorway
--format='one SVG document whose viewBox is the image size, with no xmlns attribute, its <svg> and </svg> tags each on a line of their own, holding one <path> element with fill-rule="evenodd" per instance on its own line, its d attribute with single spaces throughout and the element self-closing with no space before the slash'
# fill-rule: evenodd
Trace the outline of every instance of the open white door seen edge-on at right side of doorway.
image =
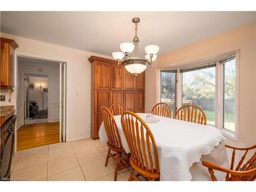
<svg viewBox="0 0 256 192">
<path fill-rule="evenodd" d="M 59 142 L 66 141 L 66 63 L 59 63 Z"/>
</svg>

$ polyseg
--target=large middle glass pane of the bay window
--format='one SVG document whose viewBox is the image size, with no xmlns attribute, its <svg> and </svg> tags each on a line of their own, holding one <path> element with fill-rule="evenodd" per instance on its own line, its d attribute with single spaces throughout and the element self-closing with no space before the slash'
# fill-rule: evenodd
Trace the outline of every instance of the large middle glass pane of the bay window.
<svg viewBox="0 0 256 192">
<path fill-rule="evenodd" d="M 215 125 L 216 67 L 182 73 L 182 105 L 194 104 L 203 109 L 207 124 Z"/>
</svg>

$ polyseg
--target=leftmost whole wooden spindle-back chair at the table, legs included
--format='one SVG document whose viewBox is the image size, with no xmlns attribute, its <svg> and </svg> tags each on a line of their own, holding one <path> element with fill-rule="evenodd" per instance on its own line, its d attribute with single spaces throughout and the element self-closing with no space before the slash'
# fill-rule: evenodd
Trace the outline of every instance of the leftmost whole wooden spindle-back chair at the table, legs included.
<svg viewBox="0 0 256 192">
<path fill-rule="evenodd" d="M 116 125 L 116 121 L 111 111 L 105 106 L 102 106 L 101 115 L 105 126 L 106 135 L 108 136 L 107 145 L 109 147 L 108 154 L 106 156 L 105 166 L 108 165 L 109 158 L 112 157 L 116 164 L 114 176 L 114 181 L 116 181 L 117 171 L 131 166 L 129 163 L 129 156 L 125 154 L 126 158 L 122 158 L 122 153 L 124 152 L 124 149 Z M 112 154 L 111 151 L 115 152 L 115 154 Z"/>
</svg>

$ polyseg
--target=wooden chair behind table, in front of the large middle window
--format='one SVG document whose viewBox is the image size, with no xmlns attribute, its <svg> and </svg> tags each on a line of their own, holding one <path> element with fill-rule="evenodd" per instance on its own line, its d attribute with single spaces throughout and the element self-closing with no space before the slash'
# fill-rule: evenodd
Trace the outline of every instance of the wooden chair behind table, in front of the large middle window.
<svg viewBox="0 0 256 192">
<path fill-rule="evenodd" d="M 179 108 L 175 114 L 175 119 L 205 125 L 207 123 L 204 111 L 199 106 L 193 104 L 183 105 Z"/>
</svg>

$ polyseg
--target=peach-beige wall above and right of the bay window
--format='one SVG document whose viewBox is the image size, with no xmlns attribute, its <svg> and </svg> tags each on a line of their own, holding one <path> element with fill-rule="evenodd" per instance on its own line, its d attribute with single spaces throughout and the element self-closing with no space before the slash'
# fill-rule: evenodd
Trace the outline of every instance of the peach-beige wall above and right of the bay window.
<svg viewBox="0 0 256 192">
<path fill-rule="evenodd" d="M 239 124 L 238 142 L 226 142 L 238 146 L 256 143 L 256 22 L 195 42 L 158 58 L 158 69 L 182 65 L 194 60 L 212 58 L 215 55 L 240 50 L 239 68 Z M 147 72 L 150 74 L 151 72 Z M 151 77 L 153 78 L 153 77 Z M 155 86 L 146 79 L 146 91 L 153 93 Z M 154 95 L 147 102 L 154 100 Z M 150 101 L 149 101 L 150 100 Z M 146 103 L 146 106 L 148 104 Z M 150 103 L 151 105 L 151 103 Z"/>
</svg>

